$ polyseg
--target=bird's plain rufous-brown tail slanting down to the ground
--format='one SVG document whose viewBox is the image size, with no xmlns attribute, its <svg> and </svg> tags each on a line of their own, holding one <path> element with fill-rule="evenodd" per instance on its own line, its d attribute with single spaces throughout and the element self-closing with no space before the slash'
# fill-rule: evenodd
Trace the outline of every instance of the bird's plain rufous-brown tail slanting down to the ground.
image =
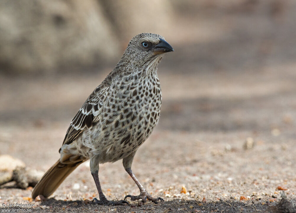
<svg viewBox="0 0 296 213">
<path fill-rule="evenodd" d="M 38 195 L 43 195 L 46 198 L 49 197 L 65 178 L 82 162 L 83 160 L 75 163 L 63 164 L 58 160 L 34 187 L 32 198 L 35 199 Z"/>
</svg>

